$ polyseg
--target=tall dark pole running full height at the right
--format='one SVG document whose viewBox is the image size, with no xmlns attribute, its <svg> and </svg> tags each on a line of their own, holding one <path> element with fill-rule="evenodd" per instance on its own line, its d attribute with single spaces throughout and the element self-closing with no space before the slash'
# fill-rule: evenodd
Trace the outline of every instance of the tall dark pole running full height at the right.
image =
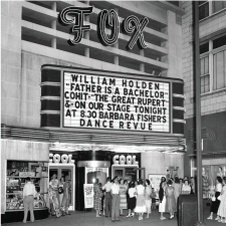
<svg viewBox="0 0 226 226">
<path fill-rule="evenodd" d="M 200 98 L 200 51 L 199 51 L 199 2 L 194 1 L 195 19 L 195 124 L 196 124 L 196 156 L 197 156 L 197 201 L 198 201 L 198 221 L 197 226 L 206 225 L 203 220 L 203 190 L 202 190 L 202 144 L 201 144 L 201 98 Z"/>
</svg>

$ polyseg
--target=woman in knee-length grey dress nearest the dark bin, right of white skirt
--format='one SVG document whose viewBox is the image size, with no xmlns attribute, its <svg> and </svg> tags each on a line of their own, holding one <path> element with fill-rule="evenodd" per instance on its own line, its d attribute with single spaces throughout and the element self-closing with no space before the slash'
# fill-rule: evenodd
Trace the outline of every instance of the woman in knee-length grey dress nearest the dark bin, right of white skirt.
<svg viewBox="0 0 226 226">
<path fill-rule="evenodd" d="M 172 186 L 173 182 L 168 180 L 168 186 L 166 187 L 166 212 L 170 213 L 169 220 L 174 218 L 176 212 L 176 199 L 175 199 L 175 188 Z"/>
</svg>

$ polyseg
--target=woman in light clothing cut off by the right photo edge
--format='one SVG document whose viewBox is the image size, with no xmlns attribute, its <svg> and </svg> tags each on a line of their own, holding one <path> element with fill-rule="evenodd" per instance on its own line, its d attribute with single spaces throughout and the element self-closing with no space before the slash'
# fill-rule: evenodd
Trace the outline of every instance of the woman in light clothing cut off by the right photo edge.
<svg viewBox="0 0 226 226">
<path fill-rule="evenodd" d="M 223 188 L 221 191 L 220 206 L 217 211 L 217 215 L 221 218 L 218 222 L 226 224 L 226 177 L 223 177 Z"/>
</svg>

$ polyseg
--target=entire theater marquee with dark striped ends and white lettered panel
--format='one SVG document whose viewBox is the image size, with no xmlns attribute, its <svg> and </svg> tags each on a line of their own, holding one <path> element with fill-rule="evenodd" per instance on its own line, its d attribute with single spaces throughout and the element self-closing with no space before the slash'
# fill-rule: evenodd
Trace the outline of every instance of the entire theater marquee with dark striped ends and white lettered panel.
<svg viewBox="0 0 226 226">
<path fill-rule="evenodd" d="M 183 85 L 175 78 L 44 65 L 41 127 L 181 135 Z"/>
</svg>

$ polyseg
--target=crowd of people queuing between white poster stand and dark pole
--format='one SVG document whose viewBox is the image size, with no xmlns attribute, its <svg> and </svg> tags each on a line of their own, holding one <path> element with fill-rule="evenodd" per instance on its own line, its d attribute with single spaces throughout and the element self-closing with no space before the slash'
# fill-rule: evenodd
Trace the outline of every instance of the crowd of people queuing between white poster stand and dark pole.
<svg viewBox="0 0 226 226">
<path fill-rule="evenodd" d="M 160 213 L 160 219 L 165 220 L 164 213 L 169 213 L 168 219 L 173 219 L 177 212 L 177 200 L 180 194 L 195 194 L 196 185 L 193 177 L 167 178 L 162 177 L 159 189 L 154 190 L 150 180 L 127 181 L 119 177 L 107 178 L 102 186 L 99 179 L 94 184 L 94 209 L 96 217 L 111 217 L 118 221 L 119 216 L 138 216 L 138 220 L 149 218 L 152 211 Z M 157 206 L 157 201 L 158 206 Z"/>
</svg>

